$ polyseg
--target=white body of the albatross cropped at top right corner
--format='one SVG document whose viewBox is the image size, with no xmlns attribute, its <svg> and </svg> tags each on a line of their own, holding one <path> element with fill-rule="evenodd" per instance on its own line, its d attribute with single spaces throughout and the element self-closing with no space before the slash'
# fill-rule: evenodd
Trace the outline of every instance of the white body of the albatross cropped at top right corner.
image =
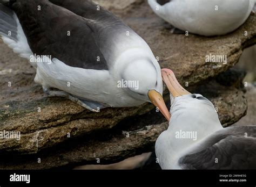
<svg viewBox="0 0 256 187">
<path fill-rule="evenodd" d="M 183 31 L 200 35 L 223 35 L 244 24 L 255 0 L 148 0 L 152 10 Z"/>
</svg>

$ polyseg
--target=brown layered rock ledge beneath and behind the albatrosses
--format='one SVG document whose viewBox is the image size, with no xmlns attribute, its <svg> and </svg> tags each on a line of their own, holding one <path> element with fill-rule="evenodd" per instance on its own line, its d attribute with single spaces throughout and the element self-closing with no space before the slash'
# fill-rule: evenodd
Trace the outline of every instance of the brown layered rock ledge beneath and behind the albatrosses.
<svg viewBox="0 0 256 187">
<path fill-rule="evenodd" d="M 256 43 L 256 16 L 222 37 L 172 34 L 145 1 L 103 3 L 151 47 L 162 68 L 174 71 L 190 92 L 209 98 L 223 126 L 246 114 L 241 89 L 244 73 L 228 69 L 242 50 Z M 105 3 L 105 4 L 104 4 Z M 245 35 L 247 31 L 247 35 Z M 113 163 L 153 150 L 167 123 L 152 104 L 87 111 L 65 98 L 48 98 L 33 82 L 36 70 L 0 42 L 0 131 L 21 132 L 21 140 L 0 139 L 0 169 L 49 169 L 77 164 Z M 206 62 L 224 55 L 227 62 Z M 232 81 L 230 78 L 233 77 Z M 169 95 L 165 90 L 165 99 Z M 10 156 L 11 155 L 11 156 Z M 40 159 L 40 163 L 38 163 Z"/>
</svg>

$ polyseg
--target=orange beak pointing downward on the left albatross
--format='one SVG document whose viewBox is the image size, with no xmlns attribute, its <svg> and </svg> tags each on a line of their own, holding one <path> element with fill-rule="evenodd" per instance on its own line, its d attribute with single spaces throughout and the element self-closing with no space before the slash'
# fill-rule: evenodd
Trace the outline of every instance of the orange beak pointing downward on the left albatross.
<svg viewBox="0 0 256 187">
<path fill-rule="evenodd" d="M 158 107 L 159 111 L 169 121 L 171 118 L 171 114 L 169 113 L 169 110 L 167 109 L 164 99 L 161 96 L 161 94 L 159 92 L 157 92 L 156 90 L 150 90 L 149 92 L 147 92 L 147 96 L 149 96 L 151 103 L 154 106 Z"/>
</svg>

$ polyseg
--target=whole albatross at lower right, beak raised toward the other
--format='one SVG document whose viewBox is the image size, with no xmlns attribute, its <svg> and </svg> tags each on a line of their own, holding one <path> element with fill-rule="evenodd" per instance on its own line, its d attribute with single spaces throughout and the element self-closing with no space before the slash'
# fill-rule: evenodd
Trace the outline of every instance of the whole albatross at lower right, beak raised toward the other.
<svg viewBox="0 0 256 187">
<path fill-rule="evenodd" d="M 170 69 L 162 75 L 171 92 L 171 119 L 156 141 L 160 167 L 256 169 L 256 126 L 223 128 L 210 100 L 187 92 Z"/>
</svg>

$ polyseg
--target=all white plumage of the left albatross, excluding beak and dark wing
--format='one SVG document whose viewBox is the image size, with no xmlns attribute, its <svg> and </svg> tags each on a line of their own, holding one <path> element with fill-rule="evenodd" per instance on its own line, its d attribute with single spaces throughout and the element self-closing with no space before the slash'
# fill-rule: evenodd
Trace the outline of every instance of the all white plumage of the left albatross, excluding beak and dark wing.
<svg viewBox="0 0 256 187">
<path fill-rule="evenodd" d="M 2 39 L 19 56 L 30 60 L 33 53 L 16 15 L 15 20 L 18 25 L 17 41 L 6 36 L 2 36 Z M 44 88 L 58 88 L 72 95 L 112 107 L 136 106 L 149 102 L 147 95 L 140 96 L 136 93 L 133 94 L 132 91 L 140 93 L 143 90 L 156 89 L 160 93 L 163 92 L 158 62 L 150 47 L 136 33 L 130 33 L 129 37 L 119 38 L 118 41 L 116 46 L 112 46 L 112 54 L 106 54 L 106 56 L 110 56 L 109 62 L 112 66 L 110 70 L 70 67 L 58 59 L 52 59 L 50 63 L 48 61 L 30 62 L 33 67 L 37 68 L 35 82 Z M 126 91 L 118 88 L 118 81 L 122 80 L 121 73 L 126 76 L 123 77 L 126 80 L 138 81 L 139 89 Z M 157 87 L 156 82 L 158 82 Z M 70 87 L 67 87 L 68 83 L 70 83 Z"/>
</svg>

